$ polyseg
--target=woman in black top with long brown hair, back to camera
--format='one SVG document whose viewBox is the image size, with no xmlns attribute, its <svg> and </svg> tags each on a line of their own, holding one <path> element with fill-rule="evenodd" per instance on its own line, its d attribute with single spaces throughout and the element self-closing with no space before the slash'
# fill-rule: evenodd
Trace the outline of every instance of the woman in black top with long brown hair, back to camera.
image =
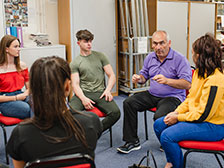
<svg viewBox="0 0 224 168">
<path fill-rule="evenodd" d="M 94 113 L 68 107 L 70 87 L 71 70 L 65 60 L 53 56 L 34 62 L 30 70 L 34 116 L 16 126 L 6 148 L 15 168 L 50 156 L 82 153 L 94 158 L 101 122 Z"/>
</svg>

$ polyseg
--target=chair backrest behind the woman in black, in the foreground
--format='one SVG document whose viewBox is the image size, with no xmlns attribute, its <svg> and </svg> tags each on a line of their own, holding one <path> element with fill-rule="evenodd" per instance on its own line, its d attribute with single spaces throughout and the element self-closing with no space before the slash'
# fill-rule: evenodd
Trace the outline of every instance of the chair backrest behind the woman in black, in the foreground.
<svg viewBox="0 0 224 168">
<path fill-rule="evenodd" d="M 95 168 L 93 158 L 87 154 L 70 154 L 42 158 L 28 162 L 24 168 Z"/>
</svg>

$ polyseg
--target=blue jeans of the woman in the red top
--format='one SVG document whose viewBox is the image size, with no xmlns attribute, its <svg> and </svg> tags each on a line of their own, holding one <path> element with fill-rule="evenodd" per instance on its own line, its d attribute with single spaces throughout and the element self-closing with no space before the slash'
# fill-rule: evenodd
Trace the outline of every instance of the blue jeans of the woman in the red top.
<svg viewBox="0 0 224 168">
<path fill-rule="evenodd" d="M 0 95 L 14 96 L 23 93 L 21 90 L 15 92 L 0 92 Z M 28 103 L 29 97 L 26 97 L 23 101 L 9 101 L 0 103 L 0 112 L 4 116 L 16 117 L 20 119 L 29 118 L 31 115 L 31 107 Z"/>
</svg>

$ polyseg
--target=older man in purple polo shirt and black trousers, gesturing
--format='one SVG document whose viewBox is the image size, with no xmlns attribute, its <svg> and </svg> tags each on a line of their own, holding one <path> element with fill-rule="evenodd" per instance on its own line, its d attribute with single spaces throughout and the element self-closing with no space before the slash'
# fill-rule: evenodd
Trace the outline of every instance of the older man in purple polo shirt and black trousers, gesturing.
<svg viewBox="0 0 224 168">
<path fill-rule="evenodd" d="M 141 148 L 137 136 L 138 111 L 156 107 L 154 120 L 168 114 L 185 99 L 191 86 L 192 71 L 188 60 L 170 48 L 171 41 L 165 31 L 156 31 L 152 36 L 154 52 L 144 60 L 140 75 L 132 76 L 133 83 L 143 84 L 150 80 L 147 91 L 128 97 L 124 103 L 123 140 L 118 152 L 129 153 Z"/>
</svg>

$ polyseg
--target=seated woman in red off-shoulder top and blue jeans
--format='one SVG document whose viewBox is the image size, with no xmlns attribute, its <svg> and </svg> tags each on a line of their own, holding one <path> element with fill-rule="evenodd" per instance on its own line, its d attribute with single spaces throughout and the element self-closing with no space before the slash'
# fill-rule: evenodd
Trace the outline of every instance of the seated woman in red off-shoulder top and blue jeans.
<svg viewBox="0 0 224 168">
<path fill-rule="evenodd" d="M 20 42 L 5 35 L 0 42 L 0 112 L 4 116 L 28 118 L 31 108 L 28 103 L 29 73 L 19 59 Z M 26 91 L 21 89 L 26 87 Z"/>
</svg>

